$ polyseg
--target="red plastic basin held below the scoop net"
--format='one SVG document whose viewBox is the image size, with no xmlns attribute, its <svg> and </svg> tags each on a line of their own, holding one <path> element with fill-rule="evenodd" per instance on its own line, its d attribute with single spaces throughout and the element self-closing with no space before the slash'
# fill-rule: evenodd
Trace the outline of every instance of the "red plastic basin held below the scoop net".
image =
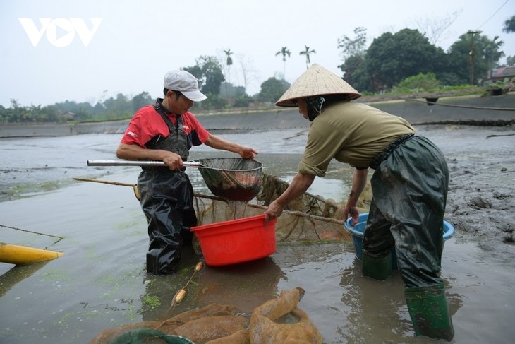
<svg viewBox="0 0 515 344">
<path fill-rule="evenodd" d="M 275 252 L 275 223 L 265 226 L 265 214 L 191 227 L 205 263 L 222 266 L 264 258 Z"/>
</svg>

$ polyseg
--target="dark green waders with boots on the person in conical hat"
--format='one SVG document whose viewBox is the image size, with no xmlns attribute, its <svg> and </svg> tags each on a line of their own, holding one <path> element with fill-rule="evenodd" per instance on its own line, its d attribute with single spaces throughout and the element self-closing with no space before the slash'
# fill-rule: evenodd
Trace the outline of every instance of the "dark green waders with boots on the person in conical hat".
<svg viewBox="0 0 515 344">
<path fill-rule="evenodd" d="M 423 136 L 394 148 L 371 179 L 372 203 L 363 233 L 363 275 L 389 276 L 395 248 L 416 336 L 452 340 L 440 266 L 449 171 Z"/>
</svg>

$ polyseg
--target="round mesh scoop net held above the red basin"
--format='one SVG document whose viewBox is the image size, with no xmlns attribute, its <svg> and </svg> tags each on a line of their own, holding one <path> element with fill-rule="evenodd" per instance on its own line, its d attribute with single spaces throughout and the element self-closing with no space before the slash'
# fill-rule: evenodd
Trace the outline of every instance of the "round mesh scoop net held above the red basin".
<svg viewBox="0 0 515 344">
<path fill-rule="evenodd" d="M 199 159 L 198 170 L 214 196 L 229 201 L 250 201 L 260 192 L 262 163 L 242 158 Z"/>
</svg>

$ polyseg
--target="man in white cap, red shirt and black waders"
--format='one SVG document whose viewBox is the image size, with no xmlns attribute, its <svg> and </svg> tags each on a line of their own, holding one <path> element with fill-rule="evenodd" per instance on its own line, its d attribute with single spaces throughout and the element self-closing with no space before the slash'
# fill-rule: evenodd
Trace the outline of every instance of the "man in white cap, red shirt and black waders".
<svg viewBox="0 0 515 344">
<path fill-rule="evenodd" d="M 191 244 L 190 227 L 197 225 L 193 187 L 183 165 L 190 148 L 204 143 L 250 159 L 258 153 L 210 134 L 189 112 L 193 102 L 207 98 L 191 73 L 166 73 L 163 93 L 164 98 L 158 98 L 155 105 L 134 114 L 116 150 L 121 159 L 159 160 L 169 167 L 142 167 L 138 177 L 150 238 L 147 272 L 155 275 L 174 272 L 181 260 L 181 248 Z"/>
</svg>

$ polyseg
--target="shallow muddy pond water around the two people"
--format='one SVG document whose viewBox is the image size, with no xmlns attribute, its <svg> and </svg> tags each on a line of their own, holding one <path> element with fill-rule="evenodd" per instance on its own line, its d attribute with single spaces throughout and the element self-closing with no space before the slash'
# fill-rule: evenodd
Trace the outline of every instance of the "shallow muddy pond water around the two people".
<svg viewBox="0 0 515 344">
<path fill-rule="evenodd" d="M 254 146 L 262 152 L 259 160 L 265 172 L 288 180 L 303 150 L 301 131 L 222 136 Z M 507 161 L 515 147 L 509 136 L 485 141 L 485 136 L 499 134 L 498 129 L 420 131 L 440 145 L 456 170 L 476 165 L 483 173 L 493 173 L 492 160 Z M 185 251 L 176 275 L 147 275 L 145 219 L 132 189 L 72 179 L 134 183 L 138 167 L 86 166 L 87 159 L 114 158 L 118 141 L 117 135 L 25 138 L 23 146 L 15 139 L 0 141 L 0 186 L 6 200 L 0 203 L 0 241 L 64 252 L 47 263 L 0 265 L 0 343 L 87 343 L 104 328 L 166 319 L 212 302 L 234 304 L 248 313 L 293 287 L 305 290 L 299 307 L 320 329 L 325 343 L 431 342 L 413 338 L 399 274 L 382 282 L 363 278 L 351 243 L 280 245 L 267 259 L 205 267 L 193 278 L 183 302 L 169 312 L 171 298 L 189 280 L 198 256 Z M 499 149 L 502 153 L 495 158 Z M 222 155 L 202 147 L 191 158 Z M 351 172 L 345 165 L 332 164 L 327 177 L 317 178 L 309 191 L 345 199 Z M 197 170 L 188 173 L 196 191 L 209 193 Z M 508 173 L 501 177 L 506 182 L 514 178 Z M 452 214 L 449 211 L 451 222 Z M 442 277 L 456 330 L 454 343 L 512 342 L 514 254 L 511 248 L 502 251 L 496 255 L 479 248 L 478 240 L 459 228 L 445 243 Z"/>
</svg>

